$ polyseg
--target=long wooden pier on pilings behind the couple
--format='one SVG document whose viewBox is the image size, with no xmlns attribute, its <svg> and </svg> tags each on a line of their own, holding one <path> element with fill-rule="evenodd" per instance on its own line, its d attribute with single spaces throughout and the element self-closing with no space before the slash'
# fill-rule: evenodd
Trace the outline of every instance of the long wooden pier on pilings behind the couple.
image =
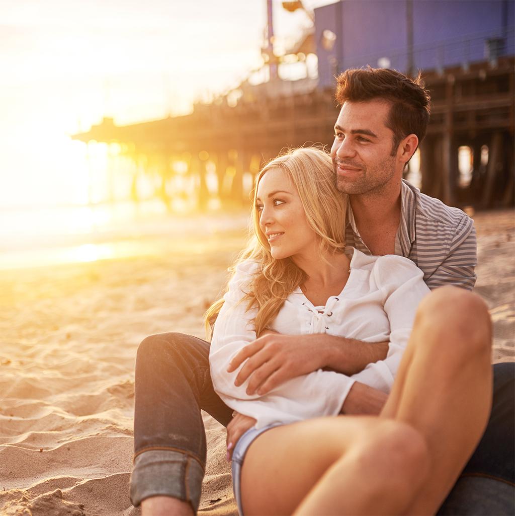
<svg viewBox="0 0 515 516">
<path fill-rule="evenodd" d="M 431 121 L 421 145 L 422 191 L 455 206 L 511 206 L 515 174 L 515 59 L 474 63 L 424 74 L 431 93 Z M 268 91 L 273 87 L 269 83 Z M 132 156 L 144 155 L 159 170 L 161 195 L 176 173 L 175 161 L 197 176 L 197 201 L 210 197 L 206 166 L 214 164 L 222 203 L 248 203 L 243 176 L 255 176 L 261 165 L 285 147 L 333 142 L 338 115 L 334 91 L 312 89 L 291 95 L 243 95 L 230 107 L 225 98 L 196 105 L 191 115 L 117 126 L 104 119 L 82 141 L 126 144 Z M 472 180 L 458 181 L 458 149 L 469 147 Z M 485 151 L 486 150 L 486 151 Z M 481 156 L 488 156 L 488 162 Z"/>
</svg>

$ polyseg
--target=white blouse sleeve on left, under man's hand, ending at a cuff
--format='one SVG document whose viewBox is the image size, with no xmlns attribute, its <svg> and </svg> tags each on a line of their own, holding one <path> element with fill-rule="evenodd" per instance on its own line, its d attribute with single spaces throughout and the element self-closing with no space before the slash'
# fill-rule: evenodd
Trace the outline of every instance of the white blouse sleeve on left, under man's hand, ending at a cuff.
<svg viewBox="0 0 515 516">
<path fill-rule="evenodd" d="M 242 299 L 257 267 L 255 262 L 248 261 L 238 265 L 224 296 L 209 350 L 214 390 L 227 406 L 256 418 L 257 428 L 272 423 L 292 423 L 310 417 L 337 415 L 354 384 L 354 380 L 344 375 L 319 369 L 288 380 L 260 396 L 257 393 L 246 394 L 248 379 L 242 385 L 234 384 L 243 364 L 234 372 L 227 372 L 230 360 L 238 351 L 256 340 L 252 324 L 256 308 L 247 310 L 247 302 Z"/>
</svg>

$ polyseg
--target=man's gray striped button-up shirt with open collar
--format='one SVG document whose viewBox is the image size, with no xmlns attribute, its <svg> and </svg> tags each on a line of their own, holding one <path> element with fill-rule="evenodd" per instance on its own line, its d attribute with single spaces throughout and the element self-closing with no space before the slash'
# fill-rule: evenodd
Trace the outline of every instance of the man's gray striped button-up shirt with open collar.
<svg viewBox="0 0 515 516">
<path fill-rule="evenodd" d="M 359 235 L 350 205 L 345 240 L 347 245 L 372 254 Z M 426 196 L 405 180 L 395 254 L 420 267 L 431 290 L 443 285 L 474 288 L 477 251 L 473 220 L 461 209 Z"/>
</svg>

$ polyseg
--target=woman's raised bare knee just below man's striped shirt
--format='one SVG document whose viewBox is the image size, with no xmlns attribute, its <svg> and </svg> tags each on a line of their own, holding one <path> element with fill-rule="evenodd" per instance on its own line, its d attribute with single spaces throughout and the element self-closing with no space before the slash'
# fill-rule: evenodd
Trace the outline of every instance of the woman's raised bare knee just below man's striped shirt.
<svg viewBox="0 0 515 516">
<path fill-rule="evenodd" d="M 478 295 L 463 288 L 437 288 L 419 305 L 414 329 L 446 352 L 486 352 L 492 343 L 488 307 Z M 426 340 L 426 339 L 424 339 Z"/>
</svg>

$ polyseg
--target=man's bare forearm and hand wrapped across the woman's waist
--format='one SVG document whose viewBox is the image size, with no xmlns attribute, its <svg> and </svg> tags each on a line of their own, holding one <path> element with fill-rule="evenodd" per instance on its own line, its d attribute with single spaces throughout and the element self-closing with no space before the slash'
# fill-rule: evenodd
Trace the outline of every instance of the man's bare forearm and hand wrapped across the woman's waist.
<svg viewBox="0 0 515 516">
<path fill-rule="evenodd" d="M 227 371 L 236 370 L 246 360 L 235 385 L 241 385 L 250 377 L 247 394 L 263 395 L 286 380 L 318 369 L 352 376 L 368 364 L 384 360 L 387 353 L 388 342 L 363 342 L 324 333 L 281 335 L 267 332 L 241 349 L 230 361 Z"/>
</svg>

